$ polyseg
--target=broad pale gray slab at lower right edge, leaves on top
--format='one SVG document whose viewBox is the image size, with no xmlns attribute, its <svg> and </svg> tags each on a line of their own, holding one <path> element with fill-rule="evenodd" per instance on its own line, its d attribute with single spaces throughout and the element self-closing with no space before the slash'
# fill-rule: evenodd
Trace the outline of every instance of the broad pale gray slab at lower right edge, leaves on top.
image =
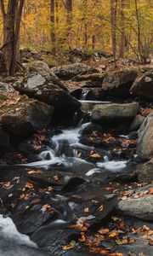
<svg viewBox="0 0 153 256">
<path fill-rule="evenodd" d="M 142 189 L 136 189 L 135 194 L 138 198 L 129 198 L 118 202 L 117 209 L 125 215 L 145 220 L 153 219 L 153 195 L 144 195 L 144 190 L 153 186 L 145 186 Z"/>
</svg>

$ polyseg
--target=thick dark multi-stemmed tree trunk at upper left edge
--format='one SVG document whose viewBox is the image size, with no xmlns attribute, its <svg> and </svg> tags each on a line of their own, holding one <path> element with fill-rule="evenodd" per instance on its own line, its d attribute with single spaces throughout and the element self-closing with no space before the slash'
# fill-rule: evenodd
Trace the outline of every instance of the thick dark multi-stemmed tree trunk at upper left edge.
<svg viewBox="0 0 153 256">
<path fill-rule="evenodd" d="M 13 75 L 20 55 L 20 21 L 25 0 L 8 0 L 5 10 L 4 1 L 0 0 L 3 15 L 3 67 L 8 75 Z"/>
</svg>

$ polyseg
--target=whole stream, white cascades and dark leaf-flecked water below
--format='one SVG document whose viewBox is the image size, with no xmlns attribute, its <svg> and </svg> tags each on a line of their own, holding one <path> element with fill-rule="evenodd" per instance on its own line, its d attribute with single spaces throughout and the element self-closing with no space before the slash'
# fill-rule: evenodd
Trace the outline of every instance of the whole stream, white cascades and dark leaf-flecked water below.
<svg viewBox="0 0 153 256">
<path fill-rule="evenodd" d="M 94 104 L 98 103 L 85 101 L 85 95 L 82 96 L 81 102 L 82 108 L 85 109 L 89 105 L 89 110 L 93 108 Z M 105 104 L 105 102 L 99 103 Z M 39 193 L 38 196 L 41 196 L 40 201 L 39 197 L 37 197 L 37 187 L 34 187 L 35 192 L 33 192 L 33 187 L 31 187 L 28 193 L 34 194 L 32 199 L 27 198 L 26 205 L 24 201 L 20 204 L 17 203 L 12 216 L 4 214 L 5 218 L 3 218 L 3 215 L 0 215 L 0 255 L 41 256 L 65 254 L 58 253 L 60 244 L 58 240 L 61 240 L 62 246 L 66 244 L 65 236 L 71 236 L 71 232 L 65 228 L 71 223 L 75 224 L 77 218 L 83 215 L 81 207 L 88 207 L 91 203 L 88 200 L 91 201 L 95 196 L 103 195 L 102 184 L 109 181 L 116 173 L 128 173 L 128 168 L 131 164 L 130 160 L 113 157 L 110 149 L 95 148 L 94 145 L 82 143 L 83 131 L 89 124 L 90 122 L 86 122 L 82 118 L 77 126 L 55 132 L 49 139 L 48 148 L 38 155 L 39 160 L 37 161 L 16 166 L 1 166 L 1 169 L 4 168 L 3 172 L 8 168 L 10 173 L 13 173 L 11 174 L 12 177 L 15 176 L 16 179 L 20 178 L 20 180 L 23 178 L 23 183 L 30 182 L 27 179 L 29 176 L 23 177 L 23 172 L 25 171 L 36 170 L 34 181 L 38 183 L 40 178 L 38 177 L 37 170 L 43 172 L 41 178 L 44 183 L 46 182 L 45 178 L 54 173 L 54 183 L 57 182 L 57 184 L 54 187 L 52 180 L 50 183 L 45 183 L 45 186 L 48 186 L 48 188 L 53 185 L 54 189 L 46 189 L 41 195 Z M 94 155 L 94 153 L 99 154 L 97 158 L 87 157 L 87 155 Z M 8 192 L 9 199 L 14 196 L 13 194 L 17 197 L 17 191 L 20 190 L 19 184 L 15 183 L 15 179 L 13 179 L 13 182 L 14 188 L 11 188 L 13 190 L 10 189 L 10 192 Z M 40 188 L 42 188 L 41 183 Z M 22 189 L 22 191 L 25 190 Z M 24 196 L 23 193 L 21 195 Z M 76 198 L 74 197 L 73 199 L 74 195 L 76 195 Z M 5 196 L 3 195 L 4 199 Z M 19 199 L 17 201 L 19 202 Z M 32 201 L 36 201 L 37 205 L 31 207 L 30 211 L 29 206 Z M 48 205 L 55 209 L 56 214 Z M 113 203 L 111 202 L 108 205 L 110 207 Z M 94 211 L 88 214 L 89 216 L 87 217 L 93 223 L 94 219 L 96 219 Z M 45 251 L 38 247 L 42 247 Z M 48 254 L 46 250 L 50 251 L 51 254 Z M 79 253 L 74 255 L 89 254 Z"/>
</svg>

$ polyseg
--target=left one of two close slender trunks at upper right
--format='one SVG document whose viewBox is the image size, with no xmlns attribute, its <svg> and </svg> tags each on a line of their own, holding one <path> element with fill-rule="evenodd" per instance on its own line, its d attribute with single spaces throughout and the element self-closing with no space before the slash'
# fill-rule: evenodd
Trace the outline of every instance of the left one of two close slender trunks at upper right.
<svg viewBox="0 0 153 256">
<path fill-rule="evenodd" d="M 111 41 L 114 61 L 116 64 L 116 5 L 117 0 L 111 0 Z"/>
</svg>

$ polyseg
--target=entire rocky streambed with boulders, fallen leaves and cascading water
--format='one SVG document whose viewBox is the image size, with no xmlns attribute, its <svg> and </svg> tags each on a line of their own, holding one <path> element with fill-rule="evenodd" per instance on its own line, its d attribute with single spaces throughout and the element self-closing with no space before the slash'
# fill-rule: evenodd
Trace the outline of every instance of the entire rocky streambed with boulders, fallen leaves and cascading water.
<svg viewBox="0 0 153 256">
<path fill-rule="evenodd" d="M 2 255 L 153 255 L 151 76 L 81 65 L 0 83 Z"/>
</svg>

